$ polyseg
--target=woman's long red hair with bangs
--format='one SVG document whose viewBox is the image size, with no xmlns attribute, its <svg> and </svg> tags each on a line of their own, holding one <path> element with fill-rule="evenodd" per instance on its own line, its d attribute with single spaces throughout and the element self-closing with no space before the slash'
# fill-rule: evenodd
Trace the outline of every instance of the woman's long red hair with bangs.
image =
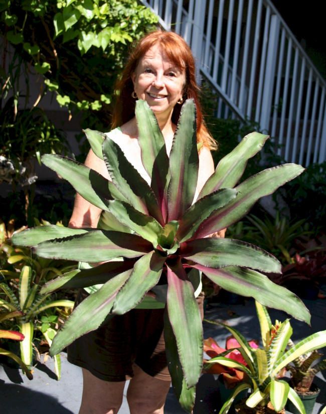
<svg viewBox="0 0 326 414">
<path fill-rule="evenodd" d="M 127 63 L 118 80 L 116 91 L 116 103 L 112 113 L 112 128 L 121 126 L 135 116 L 135 99 L 132 98 L 133 83 L 132 73 L 136 70 L 139 60 L 155 44 L 159 44 L 167 58 L 180 70 L 185 71 L 186 83 L 184 88 L 184 101 L 193 98 L 197 109 L 197 142 L 202 142 L 210 149 L 216 149 L 216 142 L 208 132 L 203 112 L 199 102 L 199 87 L 196 82 L 195 60 L 190 47 L 185 40 L 174 32 L 156 31 L 145 35 L 132 49 Z M 177 124 L 180 116 L 181 105 L 176 105 L 172 113 L 172 121 Z"/>
</svg>

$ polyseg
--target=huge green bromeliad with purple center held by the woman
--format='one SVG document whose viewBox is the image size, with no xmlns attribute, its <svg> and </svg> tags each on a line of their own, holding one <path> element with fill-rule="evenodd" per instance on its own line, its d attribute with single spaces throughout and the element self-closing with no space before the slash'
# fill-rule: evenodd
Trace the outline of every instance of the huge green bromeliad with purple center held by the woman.
<svg viewBox="0 0 326 414">
<path fill-rule="evenodd" d="M 251 296 L 265 306 L 286 310 L 309 322 L 302 302 L 259 272 L 280 272 L 275 257 L 239 240 L 207 237 L 238 221 L 260 197 L 273 193 L 301 174 L 303 168 L 294 164 L 270 168 L 236 186 L 247 160 L 267 139 L 254 132 L 220 161 L 194 202 L 199 167 L 194 102 L 188 100 L 183 105 L 170 158 L 156 118 L 145 101 L 137 101 L 136 119 L 141 159 L 150 185 L 112 140 L 88 129 L 85 132 L 91 148 L 105 161 L 112 182 L 58 155 L 45 155 L 42 161 L 67 179 L 82 197 L 105 211 L 106 220 L 101 221 L 105 226 L 44 226 L 25 230 L 13 241 L 33 246 L 42 257 L 106 261 L 71 271 L 43 288 L 46 293 L 103 284 L 75 309 L 56 335 L 50 350 L 53 355 L 96 329 L 105 318 L 141 306 L 148 299 L 146 293 L 165 272 L 167 357 L 178 399 L 191 411 L 202 371 L 203 331 L 194 295 L 198 286 L 194 289 L 194 278 L 189 277 L 193 272 L 187 269 L 203 271 L 230 292 Z"/>
</svg>

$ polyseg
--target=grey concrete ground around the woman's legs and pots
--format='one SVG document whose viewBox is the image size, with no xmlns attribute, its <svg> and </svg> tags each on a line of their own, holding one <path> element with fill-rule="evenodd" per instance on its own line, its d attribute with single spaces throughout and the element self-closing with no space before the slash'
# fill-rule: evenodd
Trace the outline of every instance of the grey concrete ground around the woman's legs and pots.
<svg viewBox="0 0 326 414">
<path fill-rule="evenodd" d="M 303 322 L 291 320 L 294 342 L 310 333 L 326 329 L 326 300 L 304 301 L 311 313 L 311 327 Z M 270 310 L 272 322 L 283 321 L 287 315 Z M 211 304 L 205 318 L 227 322 L 236 327 L 247 339 L 259 338 L 259 325 L 255 314 L 254 302 L 246 300 L 235 305 Z M 221 346 L 225 344 L 228 331 L 222 327 L 204 322 L 204 338 L 213 337 Z M 326 349 L 323 350 L 326 355 Z M 321 388 L 313 414 L 319 414 L 326 404 L 326 371 L 318 374 L 316 384 Z M 126 384 L 127 387 L 127 384 Z M 39 363 L 34 370 L 34 379 L 29 381 L 21 370 L 0 365 L 0 414 L 78 414 L 82 390 L 81 369 L 70 364 L 62 353 L 62 376 L 56 380 L 51 358 Z M 125 389 L 126 390 L 126 389 Z M 124 393 L 125 394 L 125 393 Z M 210 414 L 220 408 L 219 393 L 213 375 L 204 374 L 197 387 L 194 414 Z M 167 397 L 165 414 L 182 414 L 172 388 Z M 124 395 L 119 414 L 129 414 Z M 140 413 L 141 414 L 141 413 Z"/>
</svg>

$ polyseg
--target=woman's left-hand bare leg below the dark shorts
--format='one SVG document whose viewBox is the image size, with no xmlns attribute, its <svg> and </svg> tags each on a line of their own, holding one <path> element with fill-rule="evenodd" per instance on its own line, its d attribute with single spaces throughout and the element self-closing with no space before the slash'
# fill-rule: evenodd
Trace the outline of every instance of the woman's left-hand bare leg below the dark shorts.
<svg viewBox="0 0 326 414">
<path fill-rule="evenodd" d="M 83 368 L 83 395 L 79 414 L 117 414 L 125 381 L 103 381 Z"/>
</svg>

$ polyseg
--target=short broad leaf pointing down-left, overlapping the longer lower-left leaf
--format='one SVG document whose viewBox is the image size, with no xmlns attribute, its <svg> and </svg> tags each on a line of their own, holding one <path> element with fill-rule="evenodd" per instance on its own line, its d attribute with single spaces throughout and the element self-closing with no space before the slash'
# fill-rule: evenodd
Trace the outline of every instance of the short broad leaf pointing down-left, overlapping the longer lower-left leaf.
<svg viewBox="0 0 326 414">
<path fill-rule="evenodd" d="M 122 315 L 133 309 L 159 281 L 166 257 L 151 251 L 138 259 L 130 278 L 114 301 L 112 313 Z"/>
</svg>

